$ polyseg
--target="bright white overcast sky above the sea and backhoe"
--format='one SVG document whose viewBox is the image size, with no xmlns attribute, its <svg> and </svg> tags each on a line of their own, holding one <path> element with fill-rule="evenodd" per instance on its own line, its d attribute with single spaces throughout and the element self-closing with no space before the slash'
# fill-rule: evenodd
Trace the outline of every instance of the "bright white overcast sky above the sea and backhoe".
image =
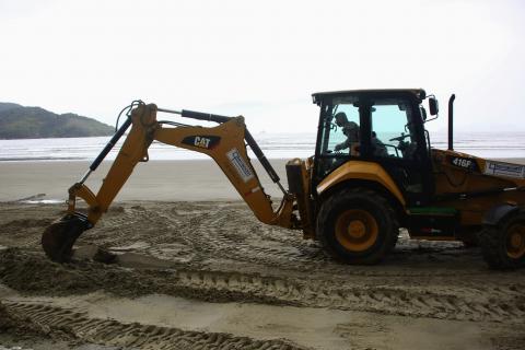
<svg viewBox="0 0 525 350">
<path fill-rule="evenodd" d="M 113 125 L 132 100 L 314 131 L 318 91 L 424 88 L 525 130 L 525 1 L 0 0 L 0 101 Z"/>
</svg>

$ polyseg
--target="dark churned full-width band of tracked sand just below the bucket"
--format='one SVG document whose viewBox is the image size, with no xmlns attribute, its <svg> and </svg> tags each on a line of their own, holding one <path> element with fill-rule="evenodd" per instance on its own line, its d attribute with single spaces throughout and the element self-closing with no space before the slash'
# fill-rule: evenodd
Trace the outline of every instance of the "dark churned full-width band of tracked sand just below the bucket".
<svg viewBox="0 0 525 350">
<path fill-rule="evenodd" d="M 127 265 L 107 266 L 88 260 L 58 265 L 39 253 L 8 249 L 0 253 L 0 280 L 10 288 L 31 293 L 75 294 L 104 290 L 128 296 L 161 293 L 209 302 L 329 307 L 439 319 L 522 323 L 525 318 L 525 300 L 517 287 L 504 293 L 476 294 L 474 289 L 459 293 L 452 287 L 371 284 L 368 278 L 329 281 L 201 270 L 185 264 L 159 267 L 156 261 L 148 267 L 140 256 L 137 258 L 139 260 L 130 259 Z M 142 265 L 133 268 L 135 264 Z M 487 289 L 491 290 L 490 283 Z"/>
</svg>

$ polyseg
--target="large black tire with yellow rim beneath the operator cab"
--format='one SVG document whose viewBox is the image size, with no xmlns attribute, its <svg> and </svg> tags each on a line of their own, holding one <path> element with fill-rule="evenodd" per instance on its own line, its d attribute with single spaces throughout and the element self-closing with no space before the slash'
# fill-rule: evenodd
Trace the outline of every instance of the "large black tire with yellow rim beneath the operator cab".
<svg viewBox="0 0 525 350">
<path fill-rule="evenodd" d="M 365 188 L 349 188 L 322 205 L 316 232 L 337 260 L 372 265 L 394 248 L 399 224 L 384 197 Z"/>
</svg>

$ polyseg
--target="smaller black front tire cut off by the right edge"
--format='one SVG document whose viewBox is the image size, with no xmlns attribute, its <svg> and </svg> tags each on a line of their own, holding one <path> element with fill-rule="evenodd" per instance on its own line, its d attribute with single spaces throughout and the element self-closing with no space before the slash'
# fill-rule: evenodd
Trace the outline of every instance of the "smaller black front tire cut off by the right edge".
<svg viewBox="0 0 525 350">
<path fill-rule="evenodd" d="M 483 258 L 492 269 L 511 270 L 525 266 L 525 212 L 487 225 L 479 233 Z"/>
</svg>

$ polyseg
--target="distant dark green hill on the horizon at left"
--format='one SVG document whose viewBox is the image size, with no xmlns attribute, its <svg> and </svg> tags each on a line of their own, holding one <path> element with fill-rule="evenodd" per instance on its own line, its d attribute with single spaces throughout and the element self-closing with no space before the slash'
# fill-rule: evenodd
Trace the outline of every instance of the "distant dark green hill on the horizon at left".
<svg viewBox="0 0 525 350">
<path fill-rule="evenodd" d="M 113 133 L 113 127 L 92 118 L 0 102 L 0 139 L 81 138 Z"/>
</svg>

